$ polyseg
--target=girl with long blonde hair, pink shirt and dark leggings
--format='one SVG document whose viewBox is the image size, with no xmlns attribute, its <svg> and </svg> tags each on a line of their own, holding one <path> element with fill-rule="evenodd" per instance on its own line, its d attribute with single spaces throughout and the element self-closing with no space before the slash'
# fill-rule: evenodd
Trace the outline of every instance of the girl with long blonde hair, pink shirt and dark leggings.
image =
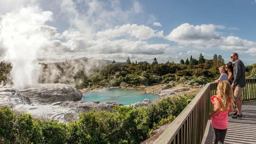
<svg viewBox="0 0 256 144">
<path fill-rule="evenodd" d="M 209 113 L 211 127 L 214 131 L 214 144 L 224 144 L 228 130 L 228 112 L 233 111 L 233 91 L 228 81 L 219 81 L 217 95 L 210 98 L 214 104 L 214 110 Z"/>
</svg>

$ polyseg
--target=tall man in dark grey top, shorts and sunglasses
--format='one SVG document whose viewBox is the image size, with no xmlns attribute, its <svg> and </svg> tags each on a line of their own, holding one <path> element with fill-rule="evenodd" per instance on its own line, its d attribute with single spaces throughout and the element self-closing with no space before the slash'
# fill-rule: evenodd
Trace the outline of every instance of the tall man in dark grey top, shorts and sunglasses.
<svg viewBox="0 0 256 144">
<path fill-rule="evenodd" d="M 232 88 L 235 87 L 234 99 L 237 105 L 238 111 L 235 112 L 232 116 L 233 119 L 243 119 L 241 108 L 242 108 L 242 92 L 246 85 L 245 78 L 245 65 L 242 60 L 238 59 L 237 53 L 231 53 L 230 59 L 235 62 L 234 66 L 234 81 L 231 85 Z"/>
</svg>

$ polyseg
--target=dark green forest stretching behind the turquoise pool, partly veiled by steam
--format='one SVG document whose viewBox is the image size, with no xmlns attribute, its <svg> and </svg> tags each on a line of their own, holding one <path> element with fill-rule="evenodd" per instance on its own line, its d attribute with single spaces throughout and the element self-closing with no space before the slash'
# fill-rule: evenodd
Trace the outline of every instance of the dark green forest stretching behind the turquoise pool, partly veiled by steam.
<svg viewBox="0 0 256 144">
<path fill-rule="evenodd" d="M 76 68 L 75 65 L 86 67 L 90 61 L 82 61 L 84 65 L 77 62 L 40 63 L 42 74 L 39 83 L 63 83 L 74 85 L 78 89 L 102 88 L 102 87 L 132 87 L 137 85 L 158 85 L 158 84 L 189 84 L 204 85 L 219 77 L 220 66 L 225 65 L 221 55 L 214 54 L 212 59 L 204 59 L 200 54 L 198 59 L 193 58 L 180 60 L 180 63 L 167 61 L 158 63 L 154 58 L 152 63 L 147 61 L 131 62 L 129 57 L 124 64 L 100 64 L 94 63 L 88 70 Z M 57 72 L 53 72 L 56 69 Z M 77 69 L 77 70 L 72 70 Z M 0 63 L 0 82 L 11 83 L 11 64 Z M 246 67 L 247 77 L 256 76 L 256 64 Z M 56 75 L 57 73 L 57 75 Z M 51 77 L 51 80 L 48 78 Z"/>
</svg>

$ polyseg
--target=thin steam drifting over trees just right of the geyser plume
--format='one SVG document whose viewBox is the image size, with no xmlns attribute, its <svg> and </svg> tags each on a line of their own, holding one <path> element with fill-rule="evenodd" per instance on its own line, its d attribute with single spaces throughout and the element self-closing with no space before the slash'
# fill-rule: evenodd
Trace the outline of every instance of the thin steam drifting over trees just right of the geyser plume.
<svg viewBox="0 0 256 144">
<path fill-rule="evenodd" d="M 75 86 L 82 83 L 79 75 L 89 77 L 100 66 L 100 60 L 86 58 L 43 64 L 39 83 L 62 83 Z"/>
</svg>

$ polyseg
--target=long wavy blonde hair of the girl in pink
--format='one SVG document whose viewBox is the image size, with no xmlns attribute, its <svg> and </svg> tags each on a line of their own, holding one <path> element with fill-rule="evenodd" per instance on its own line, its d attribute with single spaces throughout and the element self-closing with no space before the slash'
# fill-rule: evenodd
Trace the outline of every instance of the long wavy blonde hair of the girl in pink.
<svg viewBox="0 0 256 144">
<path fill-rule="evenodd" d="M 217 93 L 220 97 L 220 111 L 227 111 L 229 110 L 229 104 L 230 106 L 234 105 L 234 98 L 233 98 L 233 91 L 231 88 L 231 85 L 228 81 L 219 81 L 219 85 L 217 87 Z"/>
</svg>

